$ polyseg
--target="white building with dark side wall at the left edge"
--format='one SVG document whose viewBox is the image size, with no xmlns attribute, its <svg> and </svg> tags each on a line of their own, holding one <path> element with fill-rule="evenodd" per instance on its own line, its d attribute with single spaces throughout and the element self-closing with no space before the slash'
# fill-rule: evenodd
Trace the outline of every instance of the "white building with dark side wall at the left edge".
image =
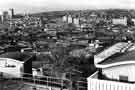
<svg viewBox="0 0 135 90">
<path fill-rule="evenodd" d="M 5 78 L 19 78 L 26 73 L 32 74 L 32 56 L 20 52 L 0 55 L 0 73 Z"/>
</svg>

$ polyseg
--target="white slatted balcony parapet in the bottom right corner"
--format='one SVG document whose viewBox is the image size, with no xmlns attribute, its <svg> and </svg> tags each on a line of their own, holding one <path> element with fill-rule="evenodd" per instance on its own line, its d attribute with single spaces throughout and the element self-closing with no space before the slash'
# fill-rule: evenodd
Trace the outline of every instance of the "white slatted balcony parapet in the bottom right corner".
<svg viewBox="0 0 135 90">
<path fill-rule="evenodd" d="M 98 79 L 98 72 L 88 77 L 88 90 L 135 90 L 135 84 Z"/>
</svg>

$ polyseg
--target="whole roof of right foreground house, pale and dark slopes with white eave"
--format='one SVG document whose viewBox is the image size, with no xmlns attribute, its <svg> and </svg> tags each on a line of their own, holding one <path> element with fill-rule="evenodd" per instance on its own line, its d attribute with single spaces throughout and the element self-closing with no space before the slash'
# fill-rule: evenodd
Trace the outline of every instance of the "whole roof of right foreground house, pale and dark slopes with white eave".
<svg viewBox="0 0 135 90">
<path fill-rule="evenodd" d="M 121 48 L 116 48 L 116 46 L 119 45 L 116 44 L 95 56 L 96 67 L 106 68 L 116 65 L 135 63 L 135 49 L 131 49 L 135 46 L 133 43 L 128 43 L 126 46 L 124 45 L 124 47 L 122 45 Z"/>
</svg>

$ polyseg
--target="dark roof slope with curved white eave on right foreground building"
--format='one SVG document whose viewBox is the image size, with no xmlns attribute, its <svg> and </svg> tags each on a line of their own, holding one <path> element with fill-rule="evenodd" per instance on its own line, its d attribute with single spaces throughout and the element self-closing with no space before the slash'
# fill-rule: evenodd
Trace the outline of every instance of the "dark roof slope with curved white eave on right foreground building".
<svg viewBox="0 0 135 90">
<path fill-rule="evenodd" d="M 135 44 L 129 43 L 126 47 L 122 48 L 120 52 L 116 52 L 104 59 L 96 57 L 97 60 L 99 59 L 99 61 L 95 63 L 96 67 L 107 68 L 118 65 L 135 64 L 135 49 L 133 46 L 135 46 Z"/>
</svg>

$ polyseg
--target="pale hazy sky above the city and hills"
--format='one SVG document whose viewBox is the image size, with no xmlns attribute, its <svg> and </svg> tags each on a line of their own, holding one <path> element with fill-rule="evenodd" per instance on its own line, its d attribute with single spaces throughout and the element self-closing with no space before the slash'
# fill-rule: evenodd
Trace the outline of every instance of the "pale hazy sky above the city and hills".
<svg viewBox="0 0 135 90">
<path fill-rule="evenodd" d="M 8 8 L 14 8 L 17 13 L 69 9 L 135 9 L 135 0 L 0 0 L 0 11 Z"/>
</svg>

